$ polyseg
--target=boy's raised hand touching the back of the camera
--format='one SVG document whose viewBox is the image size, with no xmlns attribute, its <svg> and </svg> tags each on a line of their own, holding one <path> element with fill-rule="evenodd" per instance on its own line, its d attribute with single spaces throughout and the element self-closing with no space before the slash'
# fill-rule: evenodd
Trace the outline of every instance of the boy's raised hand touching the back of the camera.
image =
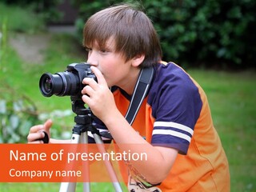
<svg viewBox="0 0 256 192">
<path fill-rule="evenodd" d="M 91 66 L 91 70 L 97 77 L 98 83 L 92 78 L 83 79 L 82 83 L 86 84 L 86 86 L 82 89 L 82 100 L 90 106 L 90 110 L 94 115 L 104 122 L 108 115 L 112 115 L 112 112 L 117 110 L 117 107 L 114 102 L 114 96 L 107 86 L 102 72 L 95 66 Z"/>
</svg>

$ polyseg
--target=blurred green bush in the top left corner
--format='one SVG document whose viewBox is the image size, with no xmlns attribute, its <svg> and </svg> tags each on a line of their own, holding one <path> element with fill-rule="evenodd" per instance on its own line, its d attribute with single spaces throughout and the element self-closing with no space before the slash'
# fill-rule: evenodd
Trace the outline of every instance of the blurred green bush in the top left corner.
<svg viewBox="0 0 256 192">
<path fill-rule="evenodd" d="M 57 9 L 61 2 L 62 0 L 2 0 L 0 23 L 3 18 L 7 18 L 10 30 L 25 33 L 45 30 L 47 23 L 58 22 L 62 18 L 62 13 Z"/>
</svg>

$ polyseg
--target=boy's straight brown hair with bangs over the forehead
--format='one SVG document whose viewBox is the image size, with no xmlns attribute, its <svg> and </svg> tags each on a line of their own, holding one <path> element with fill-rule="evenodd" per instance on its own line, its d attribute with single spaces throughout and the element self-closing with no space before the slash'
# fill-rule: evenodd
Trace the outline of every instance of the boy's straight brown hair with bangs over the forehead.
<svg viewBox="0 0 256 192">
<path fill-rule="evenodd" d="M 162 58 L 158 34 L 150 18 L 133 6 L 111 6 L 87 20 L 83 30 L 84 46 L 90 47 L 96 41 L 100 47 L 105 47 L 110 37 L 114 37 L 115 52 L 123 54 L 126 61 L 145 54 L 140 67 L 152 66 Z"/>
</svg>

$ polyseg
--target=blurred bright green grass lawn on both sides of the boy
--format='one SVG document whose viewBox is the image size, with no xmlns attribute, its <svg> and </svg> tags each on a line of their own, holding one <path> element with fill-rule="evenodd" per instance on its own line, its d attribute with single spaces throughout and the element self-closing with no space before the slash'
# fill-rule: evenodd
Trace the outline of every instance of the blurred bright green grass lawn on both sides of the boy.
<svg viewBox="0 0 256 192">
<path fill-rule="evenodd" d="M 3 10 L 6 11 L 0 4 L 1 16 Z M 9 11 L 13 13 L 12 10 Z M 0 19 L 2 30 L 5 28 L 3 26 L 9 27 L 12 21 L 10 16 L 6 18 L 8 18 L 6 24 Z M 20 18 L 22 18 L 21 15 Z M 14 35 L 13 32 L 8 32 L 7 37 L 12 38 Z M 61 72 L 71 62 L 83 61 L 85 55 L 77 53 L 80 53 L 80 50 L 74 45 L 72 37 L 52 35 L 50 45 L 44 52 L 45 61 L 27 63 L 22 61 L 7 42 L 3 41 L 0 45 L 1 86 L 10 85 L 11 91 L 14 92 L 13 96 L 16 98 L 26 94 L 38 107 L 38 113 L 70 110 L 69 97 L 44 98 L 38 90 L 38 81 L 42 73 L 46 71 Z M 230 162 L 231 191 L 256 191 L 254 150 L 256 145 L 256 72 L 228 73 L 214 70 L 188 70 L 188 72 L 199 82 L 208 96 L 214 125 Z M 55 118 L 54 122 L 55 126 L 52 130 L 56 130 L 56 135 L 63 130 L 70 131 L 71 126 L 74 125 L 73 115 L 64 120 Z M 58 189 L 59 183 L 0 183 L 2 192 L 58 191 Z M 82 191 L 81 184 L 78 185 L 77 191 Z M 110 183 L 92 183 L 92 191 L 113 191 L 113 187 Z"/>
</svg>

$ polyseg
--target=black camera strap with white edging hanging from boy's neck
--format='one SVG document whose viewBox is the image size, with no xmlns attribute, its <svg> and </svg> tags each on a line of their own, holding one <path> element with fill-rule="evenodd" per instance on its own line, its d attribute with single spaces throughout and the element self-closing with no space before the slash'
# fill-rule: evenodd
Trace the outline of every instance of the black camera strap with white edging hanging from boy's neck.
<svg viewBox="0 0 256 192">
<path fill-rule="evenodd" d="M 152 82 L 153 76 L 154 76 L 153 66 L 142 68 L 142 70 L 140 71 L 138 80 L 134 87 L 134 93 L 130 100 L 130 105 L 128 107 L 128 110 L 125 116 L 127 122 L 129 122 L 130 125 L 133 124 L 134 119 L 138 114 L 138 110 L 142 106 L 142 102 L 144 98 L 146 98 L 146 94 L 148 93 L 148 90 L 150 88 L 150 83 Z M 112 138 L 109 131 L 102 131 L 101 136 L 104 138 Z"/>
</svg>

